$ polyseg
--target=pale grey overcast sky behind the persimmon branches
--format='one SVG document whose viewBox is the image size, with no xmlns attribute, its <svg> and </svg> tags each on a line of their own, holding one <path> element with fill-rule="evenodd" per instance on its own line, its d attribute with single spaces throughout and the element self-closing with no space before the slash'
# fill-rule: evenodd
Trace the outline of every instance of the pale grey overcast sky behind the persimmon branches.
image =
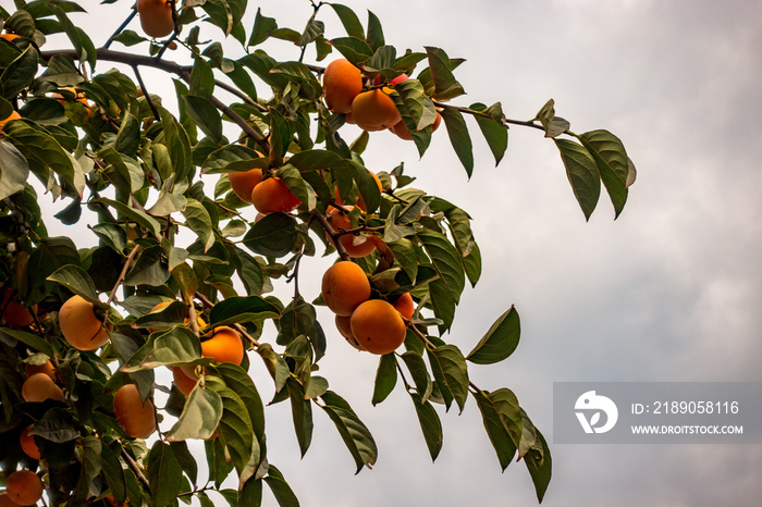
<svg viewBox="0 0 762 507">
<path fill-rule="evenodd" d="M 112 12 L 121 8 L 126 14 L 131 3 L 93 7 L 109 13 L 93 32 L 88 26 L 96 46 L 123 18 Z M 759 445 L 553 444 L 552 387 L 560 381 L 762 381 L 762 4 L 346 3 L 358 13 L 370 8 L 388 44 L 439 46 L 466 58 L 456 76 L 468 96 L 458 103 L 500 100 L 509 118 L 528 120 L 554 98 L 573 131 L 612 131 L 638 168 L 622 217 L 612 220 L 602 196 L 586 223 L 555 147 L 539 131 L 513 127 L 495 169 L 471 124 L 477 166 L 470 182 L 444 129 L 420 161 L 411 144 L 388 133 L 373 134 L 365 156 L 374 171 L 405 161 L 419 178 L 416 185 L 474 217 L 486 275 L 464 294 L 446 339 L 468 351 L 516 305 L 523 323 L 518 350 L 497 367 L 470 370 L 482 388 L 512 388 L 548 436 L 554 469 L 543 505 L 757 505 Z M 311 13 L 306 0 L 260 5 L 295 29 Z M 331 9 L 321 18 L 329 37 L 344 35 Z M 246 20 L 247 30 L 251 22 Z M 298 57 L 276 46 L 282 58 Z M 317 296 L 323 263 L 308 260 L 304 272 L 310 265 L 312 280 L 304 276 L 300 284 Z M 321 317 L 330 343 L 341 342 L 330 316 Z M 379 460 L 372 471 L 353 475 L 348 453 L 317 411 L 312 446 L 299 460 L 287 404 L 268 409 L 270 461 L 303 505 L 536 504 L 524 465 L 501 473 L 470 399 L 459 417 L 455 410 L 441 413 L 444 447 L 432 465 L 401 386 L 382 405 L 370 405 L 376 367 L 377 358 L 343 343 L 330 346 L 321 361 L 321 374 L 373 432 Z M 253 375 L 268 398 L 270 381 L 259 364 Z M 274 503 L 266 498 L 266 505 Z"/>
</svg>

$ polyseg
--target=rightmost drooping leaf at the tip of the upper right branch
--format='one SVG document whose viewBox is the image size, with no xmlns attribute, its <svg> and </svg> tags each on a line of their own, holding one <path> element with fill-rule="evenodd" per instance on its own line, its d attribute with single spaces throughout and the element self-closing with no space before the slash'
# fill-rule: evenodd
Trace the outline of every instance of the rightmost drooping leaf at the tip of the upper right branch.
<svg viewBox="0 0 762 507">
<path fill-rule="evenodd" d="M 612 205 L 614 205 L 616 213 L 614 219 L 616 220 L 627 202 L 629 159 L 625 146 L 618 137 L 609 131 L 586 132 L 577 138 L 595 160 L 601 181 L 609 191 Z"/>
</svg>

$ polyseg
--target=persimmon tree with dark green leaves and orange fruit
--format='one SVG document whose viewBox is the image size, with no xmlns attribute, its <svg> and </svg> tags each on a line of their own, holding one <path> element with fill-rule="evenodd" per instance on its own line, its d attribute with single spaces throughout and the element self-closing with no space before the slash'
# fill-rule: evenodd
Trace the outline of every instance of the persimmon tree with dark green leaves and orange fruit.
<svg viewBox="0 0 762 507">
<path fill-rule="evenodd" d="M 414 187 L 402 163 L 362 154 L 369 143 L 414 143 L 423 156 L 443 123 L 470 176 L 471 134 L 497 164 L 509 126 L 536 128 L 558 148 L 587 219 L 601 182 L 615 215 L 625 206 L 635 168 L 619 139 L 575 134 L 552 100 L 530 120 L 506 118 L 500 102 L 459 103 L 464 60 L 400 50 L 376 15 L 364 26 L 343 4 L 311 2 L 292 29 L 261 10 L 245 17 L 246 0 L 103 3 L 125 21 L 100 46 L 70 18 L 84 12 L 75 2 L 0 8 L 0 499 L 40 500 L 41 479 L 56 506 L 255 506 L 266 484 L 280 505 L 298 505 L 268 453 L 266 407 L 291 405 L 302 455 L 312 418 L 328 417 L 357 472 L 370 468 L 370 429 L 319 369 L 352 346 L 379 355 L 369 403 L 409 394 L 432 459 L 441 412 L 479 410 L 500 467 L 523 460 L 541 500 L 542 433 L 512 391 L 468 374 L 516 349 L 517 310 L 486 322 L 469 351 L 448 342 L 482 270 L 469 214 Z M 329 38 L 324 16 L 346 34 Z M 53 34 L 67 44 L 50 48 Z M 149 67 L 174 89 L 144 79 Z M 66 206 L 45 217 L 39 199 Z M 58 222 L 81 224 L 97 246 L 57 235 Z M 300 270 L 310 256 L 337 262 Z M 321 294 L 299 289 L 307 276 Z M 276 284 L 293 296 L 271 295 Z M 318 321 L 322 305 L 335 322 Z M 253 369 L 271 375 L 272 399 Z M 206 456 L 192 455 L 192 438 Z M 222 486 L 230 477 L 237 487 Z"/>
</svg>

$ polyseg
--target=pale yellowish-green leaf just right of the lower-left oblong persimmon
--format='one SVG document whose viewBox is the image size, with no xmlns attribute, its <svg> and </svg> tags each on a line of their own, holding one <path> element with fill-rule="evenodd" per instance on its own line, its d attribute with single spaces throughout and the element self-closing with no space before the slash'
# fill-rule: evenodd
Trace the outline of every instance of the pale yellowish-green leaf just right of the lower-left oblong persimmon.
<svg viewBox="0 0 762 507">
<path fill-rule="evenodd" d="M 211 389 L 198 386 L 190 392 L 177 422 L 167 433 L 165 442 L 211 437 L 222 418 L 222 398 Z"/>
</svg>

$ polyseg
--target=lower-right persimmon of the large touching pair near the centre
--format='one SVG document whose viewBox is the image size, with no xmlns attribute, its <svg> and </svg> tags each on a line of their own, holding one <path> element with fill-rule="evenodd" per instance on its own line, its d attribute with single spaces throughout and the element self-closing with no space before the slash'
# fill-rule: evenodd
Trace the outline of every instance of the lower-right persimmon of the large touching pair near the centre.
<svg viewBox="0 0 762 507">
<path fill-rule="evenodd" d="M 369 299 L 352 312 L 352 334 L 371 354 L 393 353 L 405 341 L 405 322 L 396 308 L 382 299 Z"/>
</svg>

